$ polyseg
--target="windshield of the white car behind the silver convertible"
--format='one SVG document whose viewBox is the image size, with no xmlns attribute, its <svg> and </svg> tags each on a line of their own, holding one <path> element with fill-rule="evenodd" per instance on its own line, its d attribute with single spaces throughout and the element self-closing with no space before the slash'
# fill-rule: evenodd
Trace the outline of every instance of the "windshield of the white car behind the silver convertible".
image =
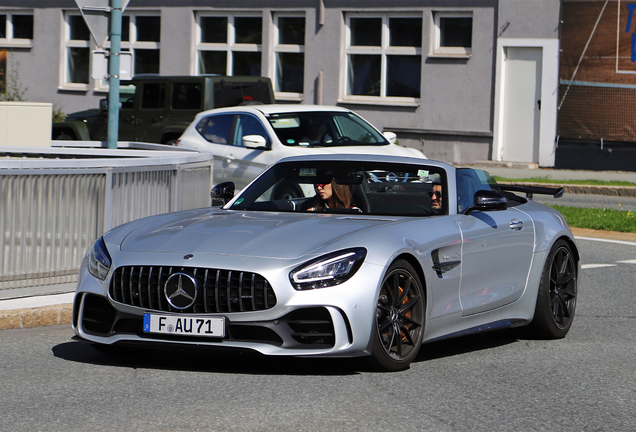
<svg viewBox="0 0 636 432">
<path fill-rule="evenodd" d="M 269 122 L 287 146 L 387 145 L 369 123 L 351 112 L 300 112 L 272 114 Z"/>
</svg>

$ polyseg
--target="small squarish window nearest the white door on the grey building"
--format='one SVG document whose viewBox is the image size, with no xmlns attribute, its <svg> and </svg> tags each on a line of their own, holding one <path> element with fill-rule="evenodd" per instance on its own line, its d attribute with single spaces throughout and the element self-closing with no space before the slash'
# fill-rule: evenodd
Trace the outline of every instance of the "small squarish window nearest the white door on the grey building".
<svg viewBox="0 0 636 432">
<path fill-rule="evenodd" d="M 471 12 L 435 12 L 435 34 L 432 54 L 438 56 L 470 56 L 473 45 Z"/>
</svg>

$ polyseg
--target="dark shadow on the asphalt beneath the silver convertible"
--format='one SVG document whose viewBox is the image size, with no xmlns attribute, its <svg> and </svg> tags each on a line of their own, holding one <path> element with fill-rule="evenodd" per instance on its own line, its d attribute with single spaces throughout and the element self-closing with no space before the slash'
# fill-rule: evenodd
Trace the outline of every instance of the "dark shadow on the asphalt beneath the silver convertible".
<svg viewBox="0 0 636 432">
<path fill-rule="evenodd" d="M 464 336 L 425 344 L 414 363 L 495 348 L 516 342 L 506 331 Z M 255 352 L 209 349 L 142 350 L 124 348 L 103 353 L 89 343 L 69 341 L 52 348 L 55 357 L 99 366 L 133 369 L 187 370 L 194 372 L 255 375 L 354 375 L 374 372 L 364 358 L 300 358 L 264 356 Z"/>
</svg>

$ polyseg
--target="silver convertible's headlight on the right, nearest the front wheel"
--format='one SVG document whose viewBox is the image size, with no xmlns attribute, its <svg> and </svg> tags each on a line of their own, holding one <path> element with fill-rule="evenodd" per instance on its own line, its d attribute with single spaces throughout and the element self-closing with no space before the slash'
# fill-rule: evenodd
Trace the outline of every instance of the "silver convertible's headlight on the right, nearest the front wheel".
<svg viewBox="0 0 636 432">
<path fill-rule="evenodd" d="M 366 256 L 364 248 L 331 253 L 297 267 L 289 274 L 289 279 L 297 290 L 338 285 L 358 271 Z"/>
</svg>

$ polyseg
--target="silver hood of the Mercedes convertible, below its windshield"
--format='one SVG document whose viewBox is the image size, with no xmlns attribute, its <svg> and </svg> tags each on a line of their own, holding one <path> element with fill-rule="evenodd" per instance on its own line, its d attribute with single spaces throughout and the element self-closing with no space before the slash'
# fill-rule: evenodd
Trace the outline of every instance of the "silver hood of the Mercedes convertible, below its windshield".
<svg viewBox="0 0 636 432">
<path fill-rule="evenodd" d="M 391 222 L 348 215 L 206 209 L 178 219 L 152 219 L 133 229 L 121 250 L 294 259 Z"/>
</svg>

